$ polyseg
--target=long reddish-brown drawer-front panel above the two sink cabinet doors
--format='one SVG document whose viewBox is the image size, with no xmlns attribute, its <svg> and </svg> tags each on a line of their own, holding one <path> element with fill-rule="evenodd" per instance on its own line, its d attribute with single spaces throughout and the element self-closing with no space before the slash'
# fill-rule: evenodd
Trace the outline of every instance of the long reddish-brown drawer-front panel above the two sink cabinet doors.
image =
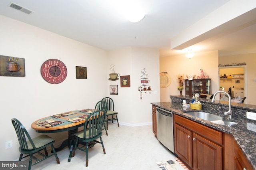
<svg viewBox="0 0 256 170">
<path fill-rule="evenodd" d="M 200 123 L 196 123 L 176 114 L 174 114 L 174 122 L 180 126 L 189 128 L 190 130 L 204 136 L 204 138 L 207 138 L 212 142 L 216 142 L 217 144 L 222 145 L 222 132 L 206 127 Z"/>
</svg>

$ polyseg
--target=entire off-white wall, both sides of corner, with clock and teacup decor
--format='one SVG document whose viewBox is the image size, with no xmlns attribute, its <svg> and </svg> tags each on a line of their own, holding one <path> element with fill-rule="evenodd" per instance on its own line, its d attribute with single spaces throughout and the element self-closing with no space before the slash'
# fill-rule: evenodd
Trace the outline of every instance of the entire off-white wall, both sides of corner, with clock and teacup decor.
<svg viewBox="0 0 256 170">
<path fill-rule="evenodd" d="M 104 51 L 46 30 L 0 16 L 0 55 L 25 59 L 26 77 L 0 76 L 0 160 L 17 160 L 18 140 L 11 124 L 19 119 L 32 137 L 38 136 L 30 128 L 32 122 L 76 109 L 94 108 L 97 101 L 110 96 L 115 101 L 121 125 L 152 124 L 150 102 L 160 101 L 158 49 L 127 47 Z M 47 59 L 56 58 L 68 69 L 66 79 L 60 84 L 47 83 L 40 68 Z M 119 81 L 109 81 L 110 64 L 116 73 L 130 75 L 131 87 L 120 87 Z M 87 79 L 76 79 L 75 66 L 87 67 Z M 138 92 L 140 75 L 147 69 L 152 93 Z M 110 95 L 109 85 L 118 85 L 118 95 Z M 134 119 L 136 117 L 136 119 Z M 68 132 L 48 134 L 54 137 L 55 146 L 67 138 Z M 13 141 L 10 149 L 5 142 Z"/>
</svg>

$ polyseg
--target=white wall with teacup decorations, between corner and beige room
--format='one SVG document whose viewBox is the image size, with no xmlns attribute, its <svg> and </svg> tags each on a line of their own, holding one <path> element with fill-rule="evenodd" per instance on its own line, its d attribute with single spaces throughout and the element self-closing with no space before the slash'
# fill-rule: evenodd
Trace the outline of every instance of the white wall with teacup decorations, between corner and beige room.
<svg viewBox="0 0 256 170">
<path fill-rule="evenodd" d="M 109 95 L 109 97 L 115 102 L 119 123 L 128 126 L 152 124 L 150 103 L 160 102 L 158 49 L 126 47 L 110 51 L 108 57 L 108 74 L 112 73 L 109 68 L 112 64 L 115 65 L 114 70 L 120 76 L 130 75 L 131 87 L 120 87 L 120 79 L 108 81 L 108 91 L 109 85 L 118 85 L 118 95 Z M 140 99 L 138 86 L 140 86 L 140 75 L 144 68 L 146 68 L 152 91 L 150 91 L 151 94 L 149 91 L 147 94 L 143 92 Z"/>
</svg>

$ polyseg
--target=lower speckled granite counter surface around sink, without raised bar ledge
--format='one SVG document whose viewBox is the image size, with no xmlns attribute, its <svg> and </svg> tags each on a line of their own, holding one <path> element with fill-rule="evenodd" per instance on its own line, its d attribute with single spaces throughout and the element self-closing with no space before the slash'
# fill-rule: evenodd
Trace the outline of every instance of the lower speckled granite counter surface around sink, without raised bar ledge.
<svg viewBox="0 0 256 170">
<path fill-rule="evenodd" d="M 221 132 L 232 134 L 238 146 L 240 147 L 245 157 L 247 158 L 248 162 L 251 164 L 254 170 L 256 170 L 256 150 L 254 146 L 256 143 L 256 132 L 247 129 L 247 127 L 250 125 L 255 125 L 256 127 L 256 121 L 246 119 L 246 118 L 234 117 L 232 118 L 231 121 L 236 122 L 238 124 L 232 125 L 229 127 L 228 125 L 218 125 L 216 123 L 212 123 L 203 119 L 192 117 L 191 115 L 184 113 L 186 111 L 187 112 L 191 111 L 192 109 L 190 109 L 190 107 L 183 107 L 182 103 L 159 102 L 159 103 L 151 103 L 151 104 L 156 107 L 165 109 L 167 111 L 171 111 L 172 113 L 175 113 L 182 117 L 186 117 L 187 119 L 198 122 L 207 127 L 211 127 Z M 241 106 L 237 106 L 237 107 L 241 107 Z M 252 108 L 252 109 L 254 110 L 255 108 Z M 196 110 L 192 110 L 192 111 L 196 111 Z M 205 111 L 205 112 L 209 113 L 209 111 Z M 212 114 L 215 114 L 215 113 L 212 113 Z M 254 128 L 254 130 L 256 129 Z"/>
</svg>

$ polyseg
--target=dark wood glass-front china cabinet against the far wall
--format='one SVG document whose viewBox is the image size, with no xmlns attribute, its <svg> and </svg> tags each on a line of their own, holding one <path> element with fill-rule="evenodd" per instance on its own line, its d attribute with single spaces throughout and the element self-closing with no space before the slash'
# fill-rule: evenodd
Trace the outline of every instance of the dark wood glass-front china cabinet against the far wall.
<svg viewBox="0 0 256 170">
<path fill-rule="evenodd" d="M 185 95 L 194 96 L 196 93 L 199 95 L 203 94 L 212 94 L 211 92 L 211 79 L 193 79 L 185 80 Z"/>
</svg>

